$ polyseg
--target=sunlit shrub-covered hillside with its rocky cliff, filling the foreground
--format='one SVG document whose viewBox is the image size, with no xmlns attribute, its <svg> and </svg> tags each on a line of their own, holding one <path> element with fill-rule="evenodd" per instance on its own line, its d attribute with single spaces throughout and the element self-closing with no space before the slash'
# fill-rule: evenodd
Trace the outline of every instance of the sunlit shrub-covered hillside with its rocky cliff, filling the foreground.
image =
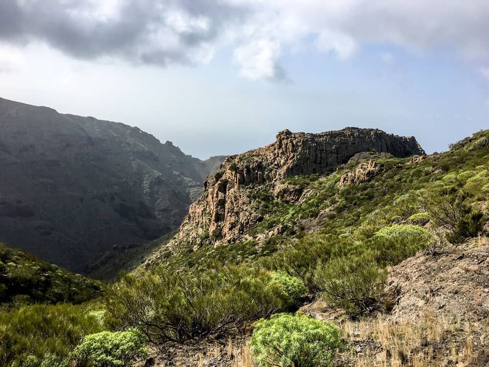
<svg viewBox="0 0 489 367">
<path fill-rule="evenodd" d="M 0 313 L 0 364 L 485 366 L 489 130 L 428 156 L 378 130 L 282 137 L 228 158 L 202 220 L 104 298 Z"/>
</svg>

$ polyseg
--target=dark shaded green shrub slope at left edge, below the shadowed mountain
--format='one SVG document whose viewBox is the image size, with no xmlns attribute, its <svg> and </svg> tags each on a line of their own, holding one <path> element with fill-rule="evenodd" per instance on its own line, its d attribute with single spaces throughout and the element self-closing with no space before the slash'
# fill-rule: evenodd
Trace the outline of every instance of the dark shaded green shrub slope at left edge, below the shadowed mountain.
<svg viewBox="0 0 489 367">
<path fill-rule="evenodd" d="M 0 243 L 0 304 L 82 303 L 100 295 L 101 283 L 72 274 Z"/>
</svg>

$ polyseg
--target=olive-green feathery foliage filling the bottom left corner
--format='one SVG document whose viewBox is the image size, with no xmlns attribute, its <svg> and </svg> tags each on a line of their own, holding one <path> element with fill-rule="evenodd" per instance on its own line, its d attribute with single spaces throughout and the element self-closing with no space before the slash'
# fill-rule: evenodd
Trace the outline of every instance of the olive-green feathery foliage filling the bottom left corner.
<svg viewBox="0 0 489 367">
<path fill-rule="evenodd" d="M 103 326 L 87 306 L 23 306 L 0 313 L 0 366 L 67 367 L 69 356 L 86 334 Z"/>
</svg>

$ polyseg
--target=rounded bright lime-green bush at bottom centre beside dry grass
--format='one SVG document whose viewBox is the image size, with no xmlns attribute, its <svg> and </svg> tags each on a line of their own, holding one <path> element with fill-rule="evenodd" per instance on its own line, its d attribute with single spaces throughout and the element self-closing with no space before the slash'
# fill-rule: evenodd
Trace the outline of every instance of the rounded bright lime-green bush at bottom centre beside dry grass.
<svg viewBox="0 0 489 367">
<path fill-rule="evenodd" d="M 341 330 L 302 314 L 278 314 L 260 321 L 249 345 L 260 367 L 331 366 L 343 346 Z"/>
</svg>

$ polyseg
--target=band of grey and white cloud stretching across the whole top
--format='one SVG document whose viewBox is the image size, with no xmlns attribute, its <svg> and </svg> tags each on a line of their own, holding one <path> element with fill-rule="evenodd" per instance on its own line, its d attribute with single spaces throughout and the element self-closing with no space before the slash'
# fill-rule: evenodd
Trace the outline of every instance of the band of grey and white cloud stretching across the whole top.
<svg viewBox="0 0 489 367">
<path fill-rule="evenodd" d="M 231 47 L 242 76 L 271 80 L 286 78 L 282 53 L 308 44 L 340 60 L 368 44 L 449 47 L 479 68 L 489 65 L 488 24 L 487 0 L 0 1 L 3 42 L 159 66 L 207 63 Z"/>
</svg>

